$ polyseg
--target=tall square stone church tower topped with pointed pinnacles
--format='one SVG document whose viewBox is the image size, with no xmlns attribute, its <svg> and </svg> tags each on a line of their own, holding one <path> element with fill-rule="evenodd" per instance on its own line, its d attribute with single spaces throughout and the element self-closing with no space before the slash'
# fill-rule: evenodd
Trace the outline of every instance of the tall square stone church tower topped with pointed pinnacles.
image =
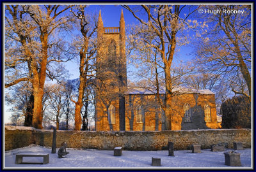
<svg viewBox="0 0 256 172">
<path fill-rule="evenodd" d="M 95 129 L 125 130 L 127 69 L 125 57 L 125 21 L 121 12 L 119 27 L 104 27 L 101 13 L 97 31 L 97 89 Z"/>
</svg>

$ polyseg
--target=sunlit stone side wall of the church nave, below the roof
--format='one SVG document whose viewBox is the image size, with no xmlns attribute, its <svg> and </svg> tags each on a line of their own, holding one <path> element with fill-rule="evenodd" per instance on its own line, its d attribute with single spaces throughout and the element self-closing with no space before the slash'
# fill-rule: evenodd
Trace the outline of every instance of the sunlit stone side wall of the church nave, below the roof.
<svg viewBox="0 0 256 172">
<path fill-rule="evenodd" d="M 164 95 L 161 95 L 164 99 Z M 191 122 L 184 122 L 184 104 L 189 104 Z M 204 106 L 209 104 L 211 122 L 205 122 Z M 136 108 L 143 106 L 144 120 L 136 122 Z M 166 122 L 172 124 L 172 131 L 191 129 L 217 129 L 216 104 L 214 94 L 177 94 L 172 97 L 172 117 Z M 125 130 L 126 131 L 161 131 L 164 123 L 161 119 L 161 108 L 154 94 L 125 95 Z M 108 131 L 105 127 L 104 131 Z"/>
</svg>

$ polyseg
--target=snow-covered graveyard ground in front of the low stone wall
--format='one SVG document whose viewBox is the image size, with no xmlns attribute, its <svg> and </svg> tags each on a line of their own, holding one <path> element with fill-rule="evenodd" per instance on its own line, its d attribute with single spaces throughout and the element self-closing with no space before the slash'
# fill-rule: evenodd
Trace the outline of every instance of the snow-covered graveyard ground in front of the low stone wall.
<svg viewBox="0 0 256 172">
<path fill-rule="evenodd" d="M 232 149 L 226 149 L 228 152 Z M 58 152 L 58 148 L 56 150 Z M 224 152 L 211 152 L 210 149 L 201 150 L 202 153 L 191 153 L 191 150 L 176 150 L 175 157 L 168 156 L 168 150 L 158 151 L 129 151 L 123 150 L 122 156 L 114 156 L 113 150 L 74 149 L 67 148 L 66 158 L 60 159 L 57 154 L 51 154 L 51 148 L 29 145 L 5 152 L 4 169 L 184 169 L 184 168 L 211 168 L 230 169 L 225 165 Z M 252 151 L 250 148 L 236 150 L 241 155 L 239 169 L 252 169 Z M 48 164 L 15 164 L 16 154 L 49 154 Z M 161 158 L 161 166 L 151 166 L 152 157 Z M 23 162 L 43 162 L 42 157 L 24 157 Z"/>
</svg>

